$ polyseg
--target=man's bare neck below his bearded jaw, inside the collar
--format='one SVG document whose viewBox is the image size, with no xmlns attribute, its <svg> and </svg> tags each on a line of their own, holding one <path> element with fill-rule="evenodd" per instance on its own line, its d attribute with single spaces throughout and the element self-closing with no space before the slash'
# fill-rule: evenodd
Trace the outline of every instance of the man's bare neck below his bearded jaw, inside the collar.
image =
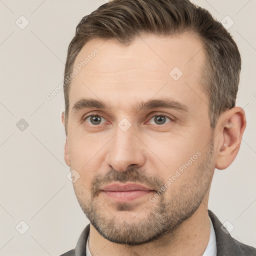
<svg viewBox="0 0 256 256">
<path fill-rule="evenodd" d="M 110 242 L 102 237 L 90 224 L 89 249 L 92 255 L 198 255 L 206 249 L 210 236 L 207 211 L 208 194 L 197 210 L 184 220 L 175 230 L 160 239 L 136 246 Z"/>
</svg>

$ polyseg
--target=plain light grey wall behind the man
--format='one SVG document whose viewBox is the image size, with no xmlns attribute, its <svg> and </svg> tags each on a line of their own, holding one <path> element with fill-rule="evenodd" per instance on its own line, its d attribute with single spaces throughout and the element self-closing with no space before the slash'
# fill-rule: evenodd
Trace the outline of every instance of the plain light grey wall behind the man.
<svg viewBox="0 0 256 256">
<path fill-rule="evenodd" d="M 234 226 L 234 238 L 256 246 L 256 0 L 193 2 L 218 20 L 228 15 L 234 21 L 228 30 L 242 57 L 236 105 L 247 117 L 236 159 L 215 171 L 209 209 Z M 51 100 L 46 94 L 63 80 L 75 26 L 103 3 L 0 0 L 0 255 L 59 255 L 74 248 L 89 223 L 66 177 L 63 91 Z M 24 29 L 21 15 L 29 21 Z M 27 128 L 22 120 L 16 126 L 21 118 Z M 24 234 L 17 231 L 25 230 L 21 220 L 29 226 Z"/>
</svg>

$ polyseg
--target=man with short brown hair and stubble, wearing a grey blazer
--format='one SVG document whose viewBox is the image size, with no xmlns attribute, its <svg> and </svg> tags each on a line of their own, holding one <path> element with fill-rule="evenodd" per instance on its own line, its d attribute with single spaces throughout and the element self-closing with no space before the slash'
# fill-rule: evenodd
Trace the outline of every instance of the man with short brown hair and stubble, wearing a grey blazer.
<svg viewBox="0 0 256 256">
<path fill-rule="evenodd" d="M 207 209 L 246 121 L 241 60 L 188 0 L 113 0 L 82 18 L 65 65 L 65 162 L 90 221 L 62 255 L 256 255 Z"/>
</svg>

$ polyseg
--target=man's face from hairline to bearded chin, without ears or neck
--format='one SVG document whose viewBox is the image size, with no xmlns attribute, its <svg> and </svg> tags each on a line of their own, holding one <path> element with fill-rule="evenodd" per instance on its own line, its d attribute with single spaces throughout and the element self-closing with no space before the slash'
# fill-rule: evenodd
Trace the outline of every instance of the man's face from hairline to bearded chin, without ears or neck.
<svg viewBox="0 0 256 256">
<path fill-rule="evenodd" d="M 156 240 L 206 200 L 215 165 L 199 83 L 204 58 L 188 34 L 141 35 L 129 46 L 92 39 L 77 55 L 74 67 L 82 68 L 71 81 L 65 160 L 80 175 L 73 186 L 82 210 L 106 239 Z M 110 183 L 150 191 L 109 192 L 103 187 Z"/>
</svg>

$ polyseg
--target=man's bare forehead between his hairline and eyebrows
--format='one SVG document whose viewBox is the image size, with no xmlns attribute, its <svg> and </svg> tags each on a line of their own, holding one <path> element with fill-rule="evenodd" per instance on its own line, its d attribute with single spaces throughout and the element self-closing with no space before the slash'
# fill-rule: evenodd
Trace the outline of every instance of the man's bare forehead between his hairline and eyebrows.
<svg viewBox="0 0 256 256">
<path fill-rule="evenodd" d="M 128 46 L 91 39 L 74 61 L 70 107 L 79 97 L 97 98 L 114 108 L 156 94 L 180 102 L 199 97 L 205 103 L 200 85 L 204 59 L 202 43 L 191 34 L 143 34 Z"/>
</svg>

